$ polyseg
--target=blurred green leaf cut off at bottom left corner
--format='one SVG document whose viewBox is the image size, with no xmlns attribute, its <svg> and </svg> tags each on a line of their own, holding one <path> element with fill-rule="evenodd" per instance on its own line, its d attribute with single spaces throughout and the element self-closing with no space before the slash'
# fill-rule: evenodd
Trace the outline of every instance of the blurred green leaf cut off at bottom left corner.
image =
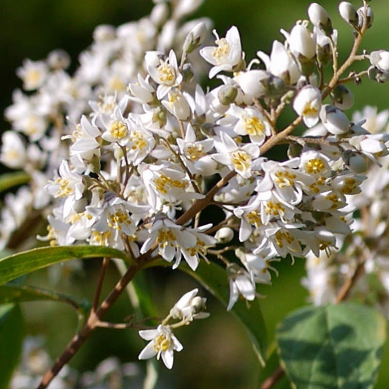
<svg viewBox="0 0 389 389">
<path fill-rule="evenodd" d="M 7 389 L 19 362 L 23 340 L 23 318 L 15 304 L 0 305 L 0 389 Z"/>
</svg>

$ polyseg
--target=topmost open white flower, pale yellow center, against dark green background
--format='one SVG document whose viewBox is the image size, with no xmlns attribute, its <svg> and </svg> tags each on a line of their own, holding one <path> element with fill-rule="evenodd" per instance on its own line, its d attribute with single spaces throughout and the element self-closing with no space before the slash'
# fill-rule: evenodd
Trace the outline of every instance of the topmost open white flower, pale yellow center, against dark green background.
<svg viewBox="0 0 389 389">
<path fill-rule="evenodd" d="M 207 46 L 200 50 L 200 55 L 214 65 L 209 73 L 210 78 L 213 78 L 220 71 L 232 71 L 242 59 L 239 31 L 235 26 L 227 31 L 225 38 L 219 38 L 216 30 L 213 30 L 213 34 L 216 37 L 217 46 Z"/>
</svg>

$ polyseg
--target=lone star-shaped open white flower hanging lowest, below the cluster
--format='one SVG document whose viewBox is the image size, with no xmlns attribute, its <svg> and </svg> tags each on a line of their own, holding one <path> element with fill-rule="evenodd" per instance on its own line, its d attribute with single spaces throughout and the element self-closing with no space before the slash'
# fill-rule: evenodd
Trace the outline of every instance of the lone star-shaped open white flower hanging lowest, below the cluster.
<svg viewBox="0 0 389 389">
<path fill-rule="evenodd" d="M 171 369 L 174 361 L 173 352 L 183 349 L 182 344 L 173 334 L 171 327 L 160 324 L 155 330 L 139 331 L 139 335 L 145 340 L 150 340 L 150 342 L 144 347 L 138 358 L 148 359 L 157 355 L 157 359 L 159 360 L 162 357 L 165 366 Z"/>
</svg>

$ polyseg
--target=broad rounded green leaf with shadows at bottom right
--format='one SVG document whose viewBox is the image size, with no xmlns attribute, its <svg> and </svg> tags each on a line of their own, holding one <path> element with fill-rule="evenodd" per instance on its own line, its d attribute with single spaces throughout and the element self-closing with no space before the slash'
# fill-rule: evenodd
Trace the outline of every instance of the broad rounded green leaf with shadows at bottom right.
<svg viewBox="0 0 389 389">
<path fill-rule="evenodd" d="M 361 304 L 306 307 L 277 331 L 280 357 L 299 389 L 371 389 L 386 340 L 386 320 Z"/>
</svg>

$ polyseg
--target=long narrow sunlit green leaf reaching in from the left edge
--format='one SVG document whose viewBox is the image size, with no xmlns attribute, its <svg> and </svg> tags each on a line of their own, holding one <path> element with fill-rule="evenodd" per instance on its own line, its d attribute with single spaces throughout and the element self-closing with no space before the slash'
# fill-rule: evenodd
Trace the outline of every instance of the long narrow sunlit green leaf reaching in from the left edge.
<svg viewBox="0 0 389 389">
<path fill-rule="evenodd" d="M 105 246 L 57 246 L 33 248 L 0 259 L 0 285 L 23 274 L 74 258 L 121 258 L 130 261 L 123 252 Z"/>
</svg>

